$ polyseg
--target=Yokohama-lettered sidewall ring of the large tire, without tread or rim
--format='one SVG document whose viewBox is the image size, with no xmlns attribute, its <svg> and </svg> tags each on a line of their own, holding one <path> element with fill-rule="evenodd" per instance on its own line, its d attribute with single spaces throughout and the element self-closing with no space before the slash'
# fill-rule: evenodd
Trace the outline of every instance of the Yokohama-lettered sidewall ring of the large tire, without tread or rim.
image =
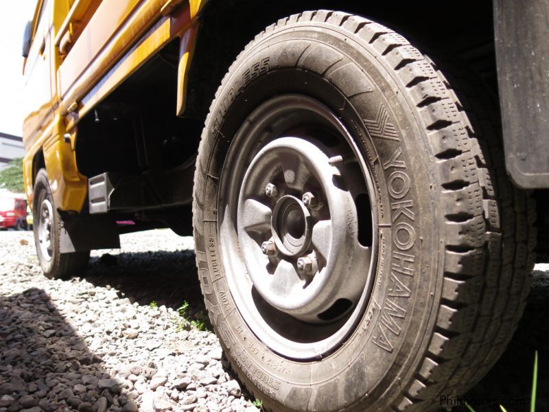
<svg viewBox="0 0 549 412">
<path fill-rule="evenodd" d="M 436 308 L 441 278 L 436 264 L 440 228 L 436 223 L 432 190 L 436 185 L 427 172 L 430 160 L 425 135 L 414 111 L 407 110 L 410 102 L 405 93 L 400 92 L 402 85 L 391 76 L 388 67 L 375 59 L 370 49 L 353 41 L 348 34 L 336 32 L 333 26 L 329 27 L 329 33 L 321 26 L 296 25 L 256 43 L 233 65 L 218 91 L 202 137 L 198 161 L 203 166 L 197 168 L 199 172 L 203 169 L 205 176 L 213 176 L 196 188 L 204 199 L 198 230 L 202 234 L 202 250 L 197 242 L 199 271 L 207 307 L 222 345 L 241 378 L 264 394 L 266 404 L 276 409 L 283 409 L 285 405 L 296 410 L 313 406 L 320 410 L 344 409 L 360 402 L 361 408 L 383 408 L 388 407 L 411 379 L 409 371 L 417 366 L 418 354 L 432 334 L 433 308 Z M 307 49 L 316 46 L 340 52 L 348 60 L 351 71 L 333 73 L 330 78 L 329 71 L 320 73 L 313 63 L 307 66 L 307 59 L 303 59 L 304 42 L 315 43 Z M 275 354 L 249 330 L 224 278 L 226 268 L 222 265 L 217 227 L 221 206 L 217 205 L 218 181 L 223 170 L 234 170 L 228 158 L 228 152 L 235 150 L 231 149 L 230 137 L 257 103 L 268 98 L 268 93 L 300 91 L 302 73 L 277 75 L 295 67 L 292 52 L 301 54 L 301 71 L 308 71 L 313 78 L 316 76 L 320 89 L 329 91 L 327 97 L 316 93 L 320 89 L 314 89 L 313 97 L 341 115 L 363 151 L 377 189 L 380 224 L 373 299 L 345 345 L 323 361 L 309 363 Z M 313 52 L 309 50 L 309 53 Z M 298 62 L 299 58 L 297 56 Z M 362 77 L 349 78 L 351 73 Z M 345 88 L 351 80 L 368 91 L 349 98 Z M 320 84 L 322 82 L 325 84 Z M 258 87 L 261 93 L 257 93 Z M 339 98 L 334 97 L 336 95 Z M 376 138 L 372 129 L 366 128 L 367 122 L 382 121 L 393 124 L 397 135 L 389 133 L 393 138 Z M 395 185 L 397 181 L 404 182 L 406 193 L 400 192 Z M 404 212 L 403 205 L 408 205 Z M 397 236 L 413 233 L 413 242 L 407 242 L 406 237 L 395 241 L 399 239 L 395 233 Z"/>
</svg>

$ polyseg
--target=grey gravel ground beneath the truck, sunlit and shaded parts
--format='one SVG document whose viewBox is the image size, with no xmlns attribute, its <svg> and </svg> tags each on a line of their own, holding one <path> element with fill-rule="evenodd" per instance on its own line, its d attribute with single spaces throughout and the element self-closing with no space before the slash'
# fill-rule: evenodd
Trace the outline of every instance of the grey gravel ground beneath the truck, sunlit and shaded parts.
<svg viewBox="0 0 549 412">
<path fill-rule="evenodd" d="M 154 230 L 121 246 L 93 251 L 82 279 L 49 280 L 32 233 L 0 232 L 0 412 L 257 411 L 215 334 L 196 328 L 205 308 L 192 238 Z M 528 410 L 535 350 L 536 410 L 549 411 L 548 297 L 549 264 L 538 264 L 509 349 L 465 395 L 477 412 Z"/>
</svg>

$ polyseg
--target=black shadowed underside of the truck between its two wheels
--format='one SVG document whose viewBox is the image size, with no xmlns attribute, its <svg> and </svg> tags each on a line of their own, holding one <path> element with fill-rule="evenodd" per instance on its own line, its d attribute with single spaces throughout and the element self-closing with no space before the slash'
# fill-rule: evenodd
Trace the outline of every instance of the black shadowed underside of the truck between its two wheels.
<svg viewBox="0 0 549 412">
<path fill-rule="evenodd" d="M 178 39 L 165 45 L 78 123 L 78 171 L 108 176 L 108 214 L 133 220 L 132 231 L 191 233 L 194 160 L 204 121 L 176 116 L 178 46 Z"/>
</svg>

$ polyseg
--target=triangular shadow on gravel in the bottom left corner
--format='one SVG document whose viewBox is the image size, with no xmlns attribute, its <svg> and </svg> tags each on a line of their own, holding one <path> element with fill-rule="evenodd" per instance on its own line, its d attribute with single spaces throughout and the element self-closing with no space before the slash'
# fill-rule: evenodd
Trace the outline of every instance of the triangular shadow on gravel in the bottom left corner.
<svg viewBox="0 0 549 412">
<path fill-rule="evenodd" d="M 1 407 L 19 411 L 39 405 L 51 412 L 89 402 L 81 409 L 93 411 L 102 396 L 98 380 L 108 378 L 102 360 L 88 350 L 44 290 L 0 297 L 0 396 L 14 398 L 0 400 Z"/>
</svg>

